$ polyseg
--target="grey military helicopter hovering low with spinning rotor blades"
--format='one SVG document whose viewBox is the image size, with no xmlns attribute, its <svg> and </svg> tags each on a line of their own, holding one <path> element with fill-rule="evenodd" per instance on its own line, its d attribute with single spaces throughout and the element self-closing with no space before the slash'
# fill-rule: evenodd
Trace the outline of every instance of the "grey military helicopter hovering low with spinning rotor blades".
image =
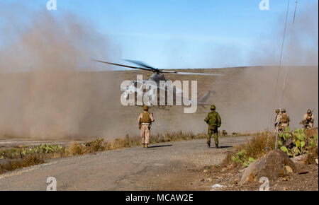
<svg viewBox="0 0 319 205">
<path fill-rule="evenodd" d="M 142 61 L 135 61 L 135 60 L 128 60 L 125 59 L 125 61 L 128 61 L 132 64 L 138 65 L 138 66 L 128 66 L 128 65 L 124 65 L 124 64 L 115 64 L 115 63 L 111 63 L 111 62 L 107 62 L 107 61 L 100 61 L 100 60 L 96 60 L 94 59 L 94 61 L 103 63 L 103 64 L 111 64 L 114 66 L 122 66 L 125 68 L 130 68 L 130 69 L 140 69 L 143 71 L 152 71 L 153 74 L 152 76 L 150 76 L 150 78 L 148 79 L 148 81 L 142 80 L 142 81 L 130 81 L 130 85 L 126 86 L 126 88 L 121 89 L 121 91 L 124 91 L 126 93 L 125 98 L 128 98 L 128 95 L 130 93 L 138 93 L 140 95 L 145 95 L 145 91 L 143 89 L 140 89 L 141 86 L 147 84 L 147 82 L 149 81 L 153 81 L 156 83 L 156 85 L 154 84 L 147 84 L 147 87 L 149 87 L 149 93 L 152 93 L 152 90 L 161 90 L 163 89 L 162 87 L 160 87 L 160 82 L 167 82 L 167 78 L 165 78 L 164 74 L 177 74 L 177 75 L 201 75 L 201 76 L 223 76 L 223 74 L 203 74 L 203 73 L 191 73 L 191 72 L 179 72 L 179 71 L 167 71 L 164 69 L 157 69 L 153 66 L 147 65 Z M 175 95 L 175 98 L 177 95 L 182 95 L 183 94 L 183 90 L 177 88 L 176 86 L 167 86 L 164 88 L 164 91 L 166 93 L 173 93 Z M 157 92 L 157 95 L 159 95 L 160 92 Z M 199 98 L 197 100 L 197 105 L 204 107 L 205 105 L 211 105 L 206 103 L 206 100 L 208 100 L 209 96 L 211 95 L 211 93 L 215 93 L 214 91 L 208 90 L 201 98 Z M 174 100 L 175 100 L 174 98 Z M 164 98 L 167 99 L 167 98 Z M 135 99 L 136 100 L 136 99 Z M 189 99 L 188 99 L 189 100 Z M 166 102 L 165 102 L 166 103 Z M 142 102 L 143 105 L 147 105 L 149 107 L 154 107 L 157 106 L 157 108 L 163 109 L 163 110 L 167 110 L 167 106 L 169 105 L 152 105 L 152 103 L 150 101 L 144 101 Z"/>
</svg>

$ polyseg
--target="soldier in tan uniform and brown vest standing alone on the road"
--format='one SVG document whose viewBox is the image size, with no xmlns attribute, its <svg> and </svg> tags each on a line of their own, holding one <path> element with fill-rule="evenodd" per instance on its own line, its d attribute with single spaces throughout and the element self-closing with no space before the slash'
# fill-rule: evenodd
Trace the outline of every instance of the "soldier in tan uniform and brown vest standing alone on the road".
<svg viewBox="0 0 319 205">
<path fill-rule="evenodd" d="M 138 116 L 138 129 L 142 138 L 142 147 L 148 148 L 150 142 L 150 127 L 155 121 L 153 114 L 148 112 L 148 106 L 143 105 L 143 112 Z"/>
</svg>

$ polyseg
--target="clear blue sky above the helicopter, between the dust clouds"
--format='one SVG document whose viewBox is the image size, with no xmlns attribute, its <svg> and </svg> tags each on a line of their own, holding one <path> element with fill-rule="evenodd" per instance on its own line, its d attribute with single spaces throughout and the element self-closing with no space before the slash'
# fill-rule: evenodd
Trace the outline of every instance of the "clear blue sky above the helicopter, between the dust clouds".
<svg viewBox="0 0 319 205">
<path fill-rule="evenodd" d="M 269 11 L 261 11 L 260 0 L 57 0 L 57 11 L 46 11 L 47 0 L 1 1 L 57 16 L 75 13 L 120 50 L 112 61 L 136 59 L 163 69 L 250 65 L 262 36 L 284 26 L 288 2 L 269 0 Z M 318 1 L 298 1 L 298 9 L 311 2 Z"/>
</svg>

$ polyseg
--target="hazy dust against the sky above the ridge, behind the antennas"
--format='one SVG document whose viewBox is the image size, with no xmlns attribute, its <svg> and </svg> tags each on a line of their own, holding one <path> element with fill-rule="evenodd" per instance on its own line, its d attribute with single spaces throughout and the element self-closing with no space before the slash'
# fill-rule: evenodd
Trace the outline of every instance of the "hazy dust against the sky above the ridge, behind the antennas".
<svg viewBox="0 0 319 205">
<path fill-rule="evenodd" d="M 256 46 L 250 52 L 250 64 L 279 65 L 285 18 L 284 14 L 279 16 L 274 28 L 268 28 L 260 38 L 257 38 L 254 43 Z M 293 10 L 289 11 L 282 64 L 318 66 L 318 2 L 298 8 L 295 20 L 293 23 Z"/>
</svg>

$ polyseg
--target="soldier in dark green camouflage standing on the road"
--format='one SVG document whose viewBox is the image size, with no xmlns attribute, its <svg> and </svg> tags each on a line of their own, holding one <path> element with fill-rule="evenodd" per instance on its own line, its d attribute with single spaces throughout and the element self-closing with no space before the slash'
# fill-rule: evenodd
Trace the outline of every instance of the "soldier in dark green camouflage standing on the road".
<svg viewBox="0 0 319 205">
<path fill-rule="evenodd" d="M 208 124 L 207 146 L 211 147 L 211 135 L 213 134 L 216 148 L 218 148 L 218 127 L 220 127 L 221 119 L 218 112 L 216 112 L 215 105 L 211 105 L 211 112 L 208 113 L 204 120 Z"/>
</svg>

